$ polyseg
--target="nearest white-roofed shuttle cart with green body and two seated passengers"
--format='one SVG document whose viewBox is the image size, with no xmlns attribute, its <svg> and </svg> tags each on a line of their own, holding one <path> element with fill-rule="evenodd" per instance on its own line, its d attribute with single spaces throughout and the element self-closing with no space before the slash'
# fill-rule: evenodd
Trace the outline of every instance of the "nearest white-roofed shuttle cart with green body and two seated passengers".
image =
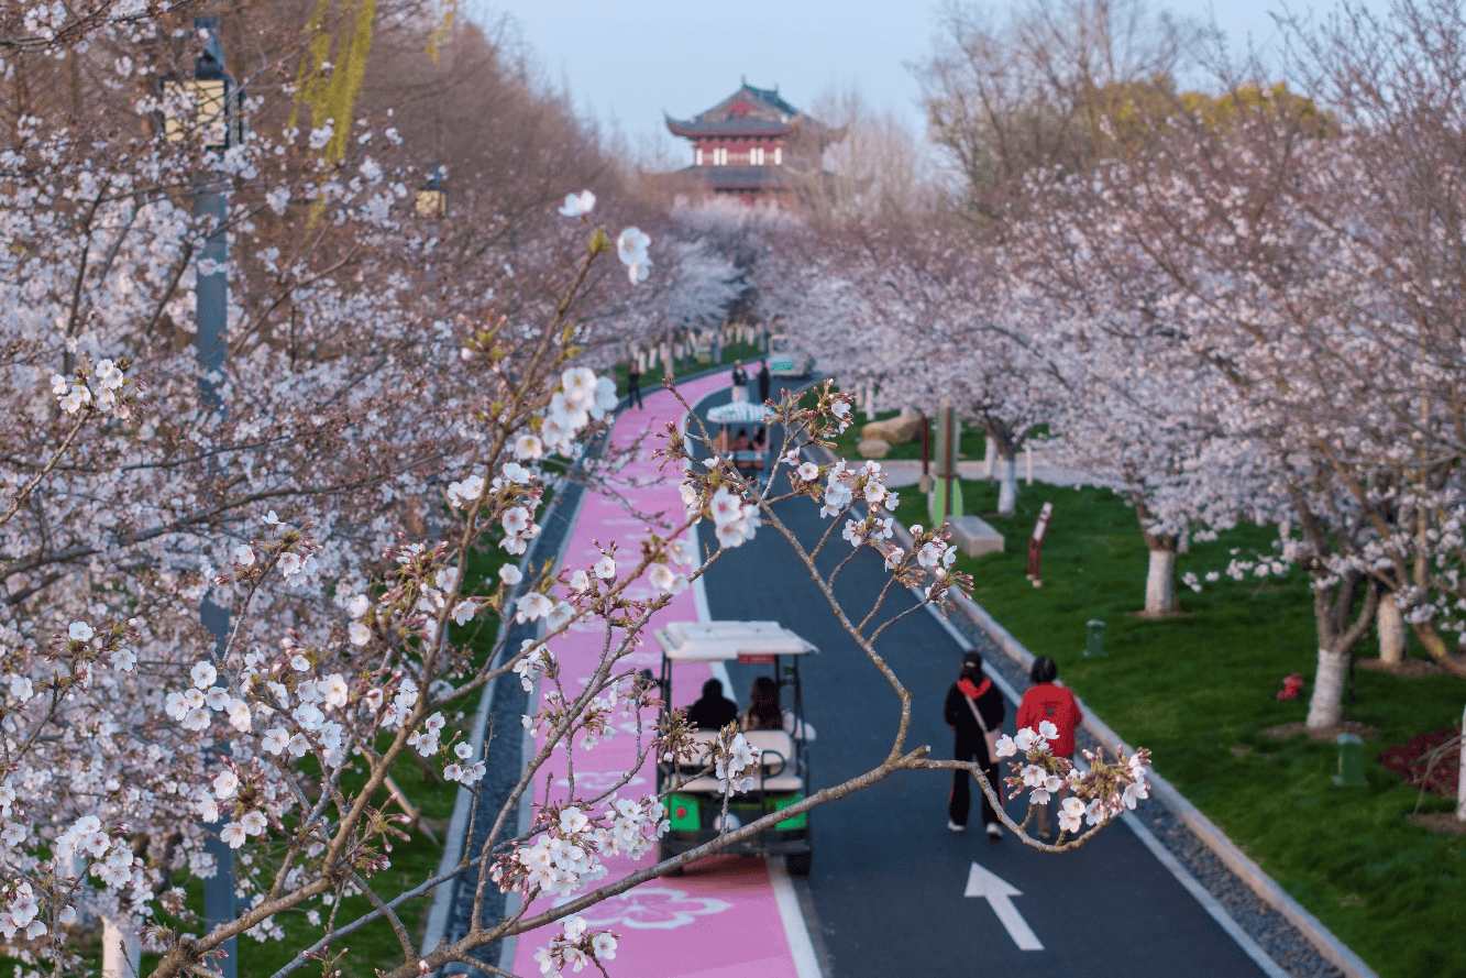
<svg viewBox="0 0 1466 978">
<path fill-rule="evenodd" d="M 664 707 L 671 704 L 673 666 L 682 663 L 752 663 L 773 667 L 774 682 L 780 689 L 780 705 L 792 708 L 795 732 L 803 735 L 799 720 L 803 716 L 803 699 L 799 686 L 799 660 L 818 651 L 776 622 L 674 622 L 652 632 L 661 645 L 661 691 Z M 786 694 L 786 691 L 789 691 Z M 792 699 L 790 699 L 792 694 Z M 789 716 L 789 714 L 786 714 Z M 717 739 L 717 730 L 699 730 L 699 742 Z M 743 738 L 759 748 L 764 755 L 755 776 L 755 784 L 729 799 L 729 827 L 737 828 L 805 799 L 809 793 L 809 758 L 803 736 L 790 736 L 786 730 L 745 730 Z M 696 849 L 718 836 L 723 817 L 723 792 L 712 774 L 698 774 L 707 767 L 704 758 L 690 762 L 657 765 L 657 793 L 676 787 L 667 798 L 667 812 L 671 830 L 661 837 L 660 858 L 670 859 L 679 853 Z M 693 777 L 696 776 L 696 777 Z M 729 846 L 724 852 L 784 856 L 784 865 L 793 875 L 808 875 L 811 864 L 809 814 L 795 815 L 771 828 Z"/>
</svg>

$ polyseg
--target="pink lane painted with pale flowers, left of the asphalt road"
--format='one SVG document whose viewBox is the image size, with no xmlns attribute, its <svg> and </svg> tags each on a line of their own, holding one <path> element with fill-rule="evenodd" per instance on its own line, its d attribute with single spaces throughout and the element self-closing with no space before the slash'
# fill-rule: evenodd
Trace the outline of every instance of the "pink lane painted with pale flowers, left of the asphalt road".
<svg viewBox="0 0 1466 978">
<path fill-rule="evenodd" d="M 707 394 L 729 386 L 726 372 L 704 377 L 679 386 L 679 391 L 690 405 Z M 666 430 L 666 424 L 683 416 L 682 405 L 666 390 L 657 390 L 645 397 L 644 411 L 623 412 L 611 431 L 611 443 L 625 449 L 648 431 Z M 677 493 L 680 472 L 670 466 L 658 471 L 649 457 L 654 438 L 647 438 L 641 457 L 630 460 L 620 472 L 622 485 L 616 496 L 588 491 L 579 518 L 566 547 L 564 566 L 586 570 L 601 556 L 595 543 L 616 543 L 620 565 L 627 565 L 639 554 L 636 545 L 644 521 L 633 513 L 682 515 L 682 497 Z M 689 540 L 688 543 L 696 543 Z M 654 597 L 649 584 L 639 581 L 627 589 L 632 598 Z M 698 601 L 693 588 L 686 588 L 671 603 L 657 613 L 652 628 L 667 622 L 699 620 Z M 561 676 L 567 677 L 566 692 L 575 691 L 582 677 L 589 677 L 601 651 L 604 632 L 594 625 L 572 629 L 551 648 L 560 661 Z M 661 652 L 655 641 L 647 636 L 644 645 L 623 663 L 635 669 L 658 672 Z M 707 666 L 686 666 L 677 672 L 674 686 L 676 705 L 690 704 L 701 692 L 704 680 L 711 676 Z M 538 705 L 531 704 L 531 713 Z M 647 717 L 654 721 L 654 717 Z M 576 748 L 576 783 L 585 789 L 597 789 L 597 783 L 610 787 L 635 762 L 636 739 L 632 721 L 623 723 L 623 730 L 592 751 Z M 542 746 L 537 738 L 535 748 Z M 564 784 L 563 754 L 551 758 L 550 774 Z M 544 784 L 544 776 L 538 779 Z M 623 789 L 627 796 L 651 795 L 655 790 L 657 773 L 651 762 L 642 765 Z M 605 861 L 610 874 L 607 880 L 622 878 L 635 869 L 655 862 L 655 852 L 641 861 L 613 856 Z M 529 912 L 548 909 L 550 899 L 535 900 Z M 776 865 L 773 875 L 765 861 L 751 856 L 715 856 L 688 869 L 685 875 L 651 880 L 617 897 L 611 897 L 581 916 L 592 928 L 610 928 L 619 934 L 616 957 L 607 962 L 607 969 L 616 975 L 658 975 L 679 978 L 818 978 L 808 946 L 808 934 L 799 918 L 793 889 L 783 867 Z M 559 925 L 529 931 L 519 937 L 515 949 L 515 971 L 537 974 L 535 952 L 560 933 Z"/>
</svg>

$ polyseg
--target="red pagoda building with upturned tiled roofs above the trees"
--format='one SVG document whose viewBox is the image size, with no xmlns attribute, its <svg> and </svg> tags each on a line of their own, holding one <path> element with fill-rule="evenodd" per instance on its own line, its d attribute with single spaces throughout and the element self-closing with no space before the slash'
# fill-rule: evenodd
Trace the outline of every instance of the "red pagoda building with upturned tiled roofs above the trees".
<svg viewBox="0 0 1466 978">
<path fill-rule="evenodd" d="M 671 135 L 692 142 L 692 166 L 674 176 L 695 189 L 745 202 L 793 204 L 811 177 L 824 179 L 824 148 L 844 136 L 778 97 L 778 87 L 742 87 L 692 119 L 667 116 Z"/>
</svg>

